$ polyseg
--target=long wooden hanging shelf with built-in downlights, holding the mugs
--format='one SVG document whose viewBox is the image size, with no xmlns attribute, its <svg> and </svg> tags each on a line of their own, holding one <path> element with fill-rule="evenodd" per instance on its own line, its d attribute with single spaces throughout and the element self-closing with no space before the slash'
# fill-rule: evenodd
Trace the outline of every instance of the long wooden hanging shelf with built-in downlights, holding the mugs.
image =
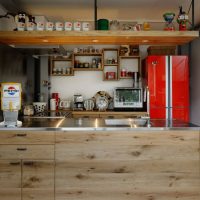
<svg viewBox="0 0 200 200">
<path fill-rule="evenodd" d="M 0 31 L 0 43 L 31 44 L 159 44 L 181 45 L 198 31 Z"/>
</svg>

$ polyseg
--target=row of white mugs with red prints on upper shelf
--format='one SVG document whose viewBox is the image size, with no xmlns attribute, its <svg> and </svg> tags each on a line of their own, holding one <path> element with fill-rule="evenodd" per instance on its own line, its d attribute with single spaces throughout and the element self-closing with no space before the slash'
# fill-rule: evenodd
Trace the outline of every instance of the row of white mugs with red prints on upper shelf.
<svg viewBox="0 0 200 200">
<path fill-rule="evenodd" d="M 17 29 L 18 31 L 89 31 L 91 28 L 89 22 L 56 22 L 55 24 L 53 22 L 38 22 L 37 24 L 34 24 L 33 22 L 27 22 L 26 24 L 18 22 Z"/>
</svg>

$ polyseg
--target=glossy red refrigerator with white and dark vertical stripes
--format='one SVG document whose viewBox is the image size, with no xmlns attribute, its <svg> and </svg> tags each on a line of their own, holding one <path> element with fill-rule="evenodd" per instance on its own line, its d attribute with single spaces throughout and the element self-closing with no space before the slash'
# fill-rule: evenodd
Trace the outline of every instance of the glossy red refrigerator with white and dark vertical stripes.
<svg viewBox="0 0 200 200">
<path fill-rule="evenodd" d="M 148 56 L 145 64 L 150 117 L 189 122 L 188 57 Z"/>
</svg>

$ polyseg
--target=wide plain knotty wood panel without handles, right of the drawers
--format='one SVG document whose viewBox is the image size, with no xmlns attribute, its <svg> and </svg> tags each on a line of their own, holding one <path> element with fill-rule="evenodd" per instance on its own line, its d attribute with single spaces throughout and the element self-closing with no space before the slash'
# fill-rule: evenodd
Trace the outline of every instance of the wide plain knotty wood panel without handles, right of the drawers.
<svg viewBox="0 0 200 200">
<path fill-rule="evenodd" d="M 56 200 L 199 200 L 198 131 L 56 134 Z"/>
</svg>

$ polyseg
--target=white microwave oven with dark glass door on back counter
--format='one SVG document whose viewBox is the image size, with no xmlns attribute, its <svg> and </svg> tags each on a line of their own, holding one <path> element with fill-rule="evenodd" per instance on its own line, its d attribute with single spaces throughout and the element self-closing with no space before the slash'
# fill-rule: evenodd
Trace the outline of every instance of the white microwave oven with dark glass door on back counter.
<svg viewBox="0 0 200 200">
<path fill-rule="evenodd" d="M 143 108 L 143 89 L 118 87 L 114 89 L 115 110 L 137 110 Z"/>
</svg>

